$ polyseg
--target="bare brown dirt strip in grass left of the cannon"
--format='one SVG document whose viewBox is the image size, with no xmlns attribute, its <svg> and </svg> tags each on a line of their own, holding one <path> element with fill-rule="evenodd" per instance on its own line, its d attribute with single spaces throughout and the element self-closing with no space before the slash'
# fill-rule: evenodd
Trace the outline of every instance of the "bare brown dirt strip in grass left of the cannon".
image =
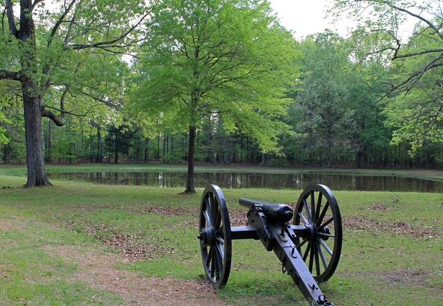
<svg viewBox="0 0 443 306">
<path fill-rule="evenodd" d="M 206 280 L 142 277 L 115 268 L 119 262 L 128 262 L 125 256 L 93 249 L 60 246 L 48 247 L 48 251 L 77 265 L 72 280 L 82 280 L 93 288 L 112 291 L 123 299 L 124 305 L 226 305 Z"/>
</svg>

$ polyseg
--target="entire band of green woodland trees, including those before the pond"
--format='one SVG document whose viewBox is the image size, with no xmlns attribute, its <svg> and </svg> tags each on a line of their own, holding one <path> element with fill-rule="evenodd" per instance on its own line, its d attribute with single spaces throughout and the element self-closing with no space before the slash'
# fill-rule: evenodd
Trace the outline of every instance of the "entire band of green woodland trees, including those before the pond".
<svg viewBox="0 0 443 306">
<path fill-rule="evenodd" d="M 352 32 L 299 40 L 266 0 L 45 2 L 0 2 L 0 164 L 29 187 L 51 163 L 443 166 L 440 1 L 332 1 Z"/>
</svg>

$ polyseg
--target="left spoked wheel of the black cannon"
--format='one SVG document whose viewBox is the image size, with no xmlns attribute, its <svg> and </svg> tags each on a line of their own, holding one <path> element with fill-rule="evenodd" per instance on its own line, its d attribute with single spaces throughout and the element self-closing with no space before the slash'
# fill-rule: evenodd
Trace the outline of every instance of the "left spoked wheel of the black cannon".
<svg viewBox="0 0 443 306">
<path fill-rule="evenodd" d="M 222 287 L 229 278 L 232 244 L 228 207 L 217 185 L 208 185 L 201 196 L 199 224 L 206 276 L 216 287 Z"/>
</svg>

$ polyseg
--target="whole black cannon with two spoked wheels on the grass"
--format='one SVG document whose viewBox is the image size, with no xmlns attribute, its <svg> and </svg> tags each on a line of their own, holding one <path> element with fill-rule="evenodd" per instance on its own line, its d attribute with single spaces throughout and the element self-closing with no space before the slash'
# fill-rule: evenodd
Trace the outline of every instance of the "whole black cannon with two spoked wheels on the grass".
<svg viewBox="0 0 443 306">
<path fill-rule="evenodd" d="M 231 228 L 219 187 L 208 185 L 201 196 L 197 238 L 210 282 L 215 287 L 226 285 L 232 240 L 260 240 L 266 251 L 275 253 L 282 271 L 291 276 L 311 305 L 333 306 L 318 287 L 334 274 L 341 256 L 341 214 L 332 191 L 322 184 L 307 187 L 298 198 L 295 213 L 278 202 L 240 198 L 239 204 L 248 207 L 248 222 Z"/>
</svg>

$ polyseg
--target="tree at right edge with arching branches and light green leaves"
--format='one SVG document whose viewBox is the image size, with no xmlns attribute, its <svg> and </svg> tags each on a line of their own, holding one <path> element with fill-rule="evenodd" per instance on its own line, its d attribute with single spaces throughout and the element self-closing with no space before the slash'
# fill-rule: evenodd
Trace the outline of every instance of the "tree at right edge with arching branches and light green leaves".
<svg viewBox="0 0 443 306">
<path fill-rule="evenodd" d="M 354 33 L 369 57 L 390 58 L 391 79 L 380 80 L 390 90 L 385 95 L 388 124 L 395 128 L 393 144 L 407 141 L 410 154 L 428 142 L 443 142 L 443 11 L 439 0 L 335 1 L 335 12 L 347 10 L 364 22 Z M 363 12 L 370 12 L 364 15 Z M 406 21 L 415 21 L 404 37 Z"/>
</svg>

